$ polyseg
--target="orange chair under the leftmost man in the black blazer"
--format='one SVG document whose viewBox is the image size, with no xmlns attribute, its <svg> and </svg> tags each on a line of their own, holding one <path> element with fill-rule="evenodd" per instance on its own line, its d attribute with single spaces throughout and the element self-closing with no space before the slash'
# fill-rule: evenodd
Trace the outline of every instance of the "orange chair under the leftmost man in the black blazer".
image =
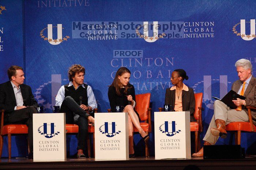
<svg viewBox="0 0 256 170">
<path fill-rule="evenodd" d="M 11 135 L 12 134 L 28 134 L 28 127 L 26 124 L 7 124 L 4 125 L 4 110 L 1 110 L 1 128 L 0 128 L 0 158 L 3 151 L 3 136 L 8 136 L 8 158 L 11 159 Z M 29 150 L 29 142 L 28 142 Z"/>
</svg>

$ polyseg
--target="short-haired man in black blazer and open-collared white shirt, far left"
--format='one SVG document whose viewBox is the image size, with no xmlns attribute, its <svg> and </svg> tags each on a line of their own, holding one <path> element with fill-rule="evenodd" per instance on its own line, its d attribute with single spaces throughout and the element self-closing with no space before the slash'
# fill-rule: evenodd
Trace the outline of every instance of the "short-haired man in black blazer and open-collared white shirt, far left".
<svg viewBox="0 0 256 170">
<path fill-rule="evenodd" d="M 37 113 L 31 88 L 24 83 L 22 67 L 8 69 L 10 81 L 0 84 L 0 108 L 5 110 L 4 124 L 26 124 L 29 128 L 29 158 L 33 159 L 33 113 Z"/>
</svg>

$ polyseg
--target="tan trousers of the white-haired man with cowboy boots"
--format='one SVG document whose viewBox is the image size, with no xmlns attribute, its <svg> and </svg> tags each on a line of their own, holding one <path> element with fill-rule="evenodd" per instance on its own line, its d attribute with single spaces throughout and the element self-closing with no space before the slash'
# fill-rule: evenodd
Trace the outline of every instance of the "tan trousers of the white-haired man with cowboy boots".
<svg viewBox="0 0 256 170">
<path fill-rule="evenodd" d="M 211 134 L 211 128 L 217 128 L 215 124 L 216 119 L 224 120 L 226 122 L 226 125 L 236 121 L 249 121 L 249 117 L 243 109 L 242 111 L 237 111 L 236 109 L 230 109 L 222 101 L 215 100 L 214 115 L 212 116 L 210 125 L 203 139 L 204 141 L 207 141 L 212 145 L 214 145 L 219 138 L 219 136 L 214 136 Z"/>
</svg>

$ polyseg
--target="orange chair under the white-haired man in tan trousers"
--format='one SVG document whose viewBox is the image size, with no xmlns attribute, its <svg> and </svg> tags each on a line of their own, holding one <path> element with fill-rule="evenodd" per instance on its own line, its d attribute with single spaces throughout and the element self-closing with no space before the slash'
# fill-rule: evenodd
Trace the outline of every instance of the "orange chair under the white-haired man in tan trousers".
<svg viewBox="0 0 256 170">
<path fill-rule="evenodd" d="M 241 144 L 241 132 L 256 132 L 256 126 L 252 122 L 251 109 L 255 110 L 256 107 L 246 106 L 248 109 L 249 122 L 247 121 L 237 121 L 226 125 L 226 131 L 235 132 L 236 144 Z"/>
</svg>

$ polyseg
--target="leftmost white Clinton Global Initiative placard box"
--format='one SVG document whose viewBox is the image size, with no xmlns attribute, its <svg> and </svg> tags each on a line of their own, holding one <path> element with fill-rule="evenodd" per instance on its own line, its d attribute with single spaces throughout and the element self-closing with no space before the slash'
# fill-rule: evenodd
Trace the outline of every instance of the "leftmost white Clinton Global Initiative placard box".
<svg viewBox="0 0 256 170">
<path fill-rule="evenodd" d="M 33 114 L 33 161 L 66 160 L 65 113 Z"/>
</svg>

